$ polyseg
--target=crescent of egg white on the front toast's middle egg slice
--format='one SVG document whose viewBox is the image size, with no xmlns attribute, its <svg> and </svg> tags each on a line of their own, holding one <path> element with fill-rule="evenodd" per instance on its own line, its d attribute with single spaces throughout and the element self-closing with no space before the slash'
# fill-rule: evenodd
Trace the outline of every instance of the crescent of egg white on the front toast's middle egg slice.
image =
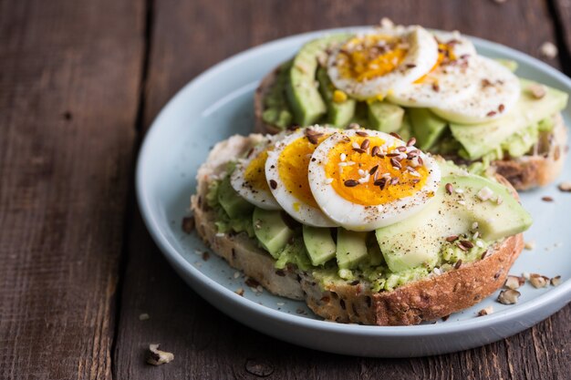
<svg viewBox="0 0 571 380">
<path fill-rule="evenodd" d="M 332 133 L 337 130 L 335 128 L 326 127 L 311 127 L 313 130 L 321 133 Z M 271 180 L 275 180 L 275 189 L 270 190 L 274 195 L 275 200 L 279 205 L 296 221 L 313 227 L 337 227 L 337 223 L 331 221 L 327 216 L 319 210 L 319 208 L 307 204 L 304 200 L 299 200 L 290 190 L 286 189 L 284 181 L 280 178 L 278 159 L 280 154 L 284 151 L 292 142 L 296 139 L 304 138 L 305 129 L 297 129 L 295 132 L 284 139 L 280 139 L 275 142 L 275 148 L 268 151 L 268 158 L 265 161 L 265 178 L 268 183 Z M 299 168 L 300 170 L 306 170 L 306 168 Z"/>
</svg>

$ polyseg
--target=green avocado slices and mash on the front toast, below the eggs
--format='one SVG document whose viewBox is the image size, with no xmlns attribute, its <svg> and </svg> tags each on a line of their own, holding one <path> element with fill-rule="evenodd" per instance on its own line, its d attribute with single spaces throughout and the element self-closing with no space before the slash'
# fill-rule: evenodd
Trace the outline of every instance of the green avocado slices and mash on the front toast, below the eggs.
<svg viewBox="0 0 571 380">
<path fill-rule="evenodd" d="M 452 161 L 439 160 L 439 166 L 441 185 L 426 206 L 376 231 L 311 227 L 291 220 L 284 211 L 236 207 L 245 200 L 228 189 L 229 175 L 210 183 L 206 200 L 215 211 L 218 232 L 247 233 L 275 259 L 277 269 L 295 265 L 311 272 L 322 286 L 359 281 L 375 292 L 389 291 L 425 278 L 434 268 L 445 272 L 459 260 L 479 260 L 491 245 L 532 223 L 503 185 Z M 228 171 L 233 169 L 229 165 Z M 446 190 L 448 183 L 452 193 Z M 238 200 L 230 201 L 231 197 Z M 453 235 L 458 239 L 446 239 Z M 460 241 L 469 241 L 472 248 L 465 249 Z"/>
</svg>

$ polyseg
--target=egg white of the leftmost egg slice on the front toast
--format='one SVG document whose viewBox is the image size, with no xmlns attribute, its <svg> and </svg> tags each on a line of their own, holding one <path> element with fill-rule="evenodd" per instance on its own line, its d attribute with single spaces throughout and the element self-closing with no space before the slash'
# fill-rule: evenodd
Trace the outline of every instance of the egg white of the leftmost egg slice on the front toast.
<svg viewBox="0 0 571 380">
<path fill-rule="evenodd" d="M 236 168 L 230 177 L 230 184 L 240 194 L 244 200 L 254 204 L 264 210 L 281 210 L 279 203 L 275 201 L 272 192 L 266 189 L 257 189 L 253 184 L 244 178 L 245 170 L 248 168 L 253 159 L 258 157 L 265 149 L 268 149 L 272 143 L 271 138 L 263 139 L 244 159 L 239 159 Z M 265 170 L 265 167 L 262 167 Z"/>
</svg>

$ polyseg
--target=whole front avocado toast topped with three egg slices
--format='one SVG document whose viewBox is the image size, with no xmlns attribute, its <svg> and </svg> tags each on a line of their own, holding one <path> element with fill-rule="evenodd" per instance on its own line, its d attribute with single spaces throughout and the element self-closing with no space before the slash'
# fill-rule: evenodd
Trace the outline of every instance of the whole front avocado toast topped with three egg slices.
<svg viewBox="0 0 571 380">
<path fill-rule="evenodd" d="M 314 126 L 218 143 L 192 196 L 202 239 L 268 291 L 340 323 L 419 324 L 500 288 L 530 215 L 396 134 Z"/>
</svg>

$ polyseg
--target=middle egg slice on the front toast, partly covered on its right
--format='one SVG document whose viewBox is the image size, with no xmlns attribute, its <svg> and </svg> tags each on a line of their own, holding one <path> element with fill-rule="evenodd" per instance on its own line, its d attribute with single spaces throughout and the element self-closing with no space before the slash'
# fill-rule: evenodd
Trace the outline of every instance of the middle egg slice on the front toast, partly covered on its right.
<svg viewBox="0 0 571 380">
<path fill-rule="evenodd" d="M 335 130 L 317 126 L 298 129 L 277 141 L 265 161 L 265 178 L 275 200 L 292 218 L 309 226 L 337 226 L 319 210 L 307 180 L 311 155 Z"/>
</svg>

